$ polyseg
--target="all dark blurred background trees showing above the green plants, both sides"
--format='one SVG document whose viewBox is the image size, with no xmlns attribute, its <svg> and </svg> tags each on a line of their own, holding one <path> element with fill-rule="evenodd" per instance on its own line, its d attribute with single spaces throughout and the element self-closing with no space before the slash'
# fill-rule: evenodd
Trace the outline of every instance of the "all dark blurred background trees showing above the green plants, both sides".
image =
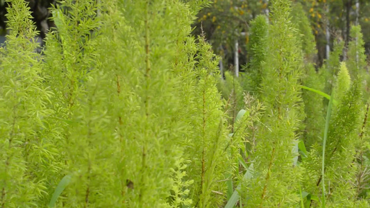
<svg viewBox="0 0 370 208">
<path fill-rule="evenodd" d="M 39 35 L 36 40 L 42 46 L 43 39 L 51 28 L 56 25 L 51 20 L 50 8 L 56 6 L 56 0 L 25 0 L 31 10 L 33 21 Z M 193 0 L 183 0 L 193 1 Z M 310 20 L 311 33 L 314 35 L 317 53 L 314 55 L 315 68 L 319 69 L 337 42 L 344 41 L 341 60 L 346 60 L 346 48 L 350 41 L 350 28 L 360 25 L 362 33 L 370 33 L 370 1 L 367 0 L 292 0 L 292 6 L 298 4 L 304 15 Z M 0 1 L 0 43 L 5 41 L 7 33 L 6 9 L 11 1 Z M 205 35 L 212 44 L 213 51 L 221 57 L 221 68 L 245 71 L 251 61 L 249 40 L 251 21 L 258 15 L 266 15 L 269 19 L 269 0 L 214 0 L 203 8 L 194 19 L 193 35 Z M 293 9 L 294 13 L 294 9 Z M 294 21 L 295 17 L 292 17 Z M 329 48 L 329 51 L 326 48 Z M 364 35 L 364 47 L 367 56 L 370 54 L 370 36 Z M 41 50 L 38 50 L 41 51 Z M 238 62 L 235 56 L 238 55 Z"/>
</svg>

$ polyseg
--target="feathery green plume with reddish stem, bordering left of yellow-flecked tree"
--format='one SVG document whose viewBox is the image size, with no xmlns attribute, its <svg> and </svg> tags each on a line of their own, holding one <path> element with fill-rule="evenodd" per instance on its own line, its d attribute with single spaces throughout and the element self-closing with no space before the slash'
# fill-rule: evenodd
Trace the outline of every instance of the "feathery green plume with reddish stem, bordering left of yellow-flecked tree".
<svg viewBox="0 0 370 208">
<path fill-rule="evenodd" d="M 219 193 L 226 192 L 226 185 L 218 181 L 224 180 L 228 168 L 228 155 L 224 154 L 226 120 L 216 88 L 218 62 L 203 37 L 199 37 L 198 44 L 186 37 L 190 31 L 190 26 L 182 28 L 174 61 L 174 73 L 180 79 L 178 99 L 183 104 L 177 116 L 185 122 L 178 134 L 183 137 L 183 157 L 190 160 L 185 170 L 194 181 L 189 187 L 192 205 L 215 207 L 224 201 Z"/>
</svg>

